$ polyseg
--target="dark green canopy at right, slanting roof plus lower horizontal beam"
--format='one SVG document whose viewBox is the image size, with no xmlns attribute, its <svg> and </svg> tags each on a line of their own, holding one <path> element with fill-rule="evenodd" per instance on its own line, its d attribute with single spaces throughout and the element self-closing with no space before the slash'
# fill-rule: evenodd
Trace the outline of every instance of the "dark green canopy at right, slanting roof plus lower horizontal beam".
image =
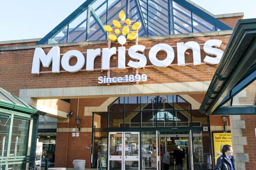
<svg viewBox="0 0 256 170">
<path fill-rule="evenodd" d="M 255 60 L 256 18 L 239 20 L 199 111 L 206 115 L 255 114 L 254 106 L 222 107 L 256 79 Z"/>
</svg>

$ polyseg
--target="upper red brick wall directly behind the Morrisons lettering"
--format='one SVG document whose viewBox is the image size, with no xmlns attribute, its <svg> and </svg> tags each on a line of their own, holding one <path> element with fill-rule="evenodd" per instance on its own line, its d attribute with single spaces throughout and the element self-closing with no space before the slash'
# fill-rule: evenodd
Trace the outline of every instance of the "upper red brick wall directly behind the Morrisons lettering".
<svg viewBox="0 0 256 170">
<path fill-rule="evenodd" d="M 227 36 L 208 36 L 208 37 L 197 37 L 197 38 L 173 38 L 163 40 L 150 40 L 140 41 L 139 43 L 146 47 L 152 47 L 157 43 L 167 43 L 169 45 L 176 45 L 177 42 L 188 42 L 196 41 L 199 44 L 204 44 L 210 39 L 222 40 L 220 49 L 224 50 L 230 35 Z M 129 42 L 126 48 L 134 45 L 134 42 Z M 112 45 L 118 47 L 118 44 Z M 78 45 L 78 46 L 67 46 L 60 47 L 60 53 L 63 54 L 66 51 L 76 49 L 81 52 L 86 52 L 86 49 L 96 49 L 107 47 L 107 44 L 96 44 L 96 45 Z M 206 53 L 201 47 L 201 59 L 203 61 Z M 44 48 L 44 51 L 48 53 L 50 48 Z M 146 55 L 148 54 L 146 49 Z M 177 63 L 176 47 L 174 47 L 175 59 L 173 64 Z M 186 63 L 192 63 L 192 51 L 186 55 Z M 40 75 L 31 74 L 32 59 L 34 55 L 34 49 L 14 50 L 14 51 L 1 51 L 0 52 L 0 87 L 14 93 L 18 96 L 20 89 L 36 89 L 36 88 L 58 88 L 58 87 L 86 87 L 86 86 L 102 86 L 97 83 L 97 77 L 106 75 L 107 71 L 78 71 L 76 73 L 41 73 Z M 158 53 L 158 59 L 166 57 L 165 52 Z M 130 57 L 126 56 L 126 63 L 130 60 Z M 70 64 L 74 64 L 76 59 L 72 57 Z M 101 61 L 100 57 L 96 57 L 94 67 L 100 69 Z M 147 65 L 152 65 L 148 59 Z M 117 67 L 117 57 L 111 57 L 111 67 Z M 139 69 L 139 73 L 146 73 L 148 75 L 148 81 L 144 83 L 174 83 L 174 82 L 191 82 L 191 81 L 210 81 L 216 70 L 217 65 L 186 65 L 177 66 L 171 65 L 168 67 L 145 67 L 145 69 Z M 41 65 L 40 71 L 51 71 L 50 68 L 44 68 Z M 85 68 L 83 68 L 85 69 Z M 61 68 L 63 70 L 63 68 Z M 124 76 L 126 74 L 134 74 L 134 69 L 125 70 L 111 70 L 110 76 Z M 127 83 L 126 83 L 127 84 Z M 130 84 L 130 83 L 129 83 Z M 141 83 L 142 84 L 142 83 Z M 120 84 L 121 85 L 121 84 Z"/>
</svg>

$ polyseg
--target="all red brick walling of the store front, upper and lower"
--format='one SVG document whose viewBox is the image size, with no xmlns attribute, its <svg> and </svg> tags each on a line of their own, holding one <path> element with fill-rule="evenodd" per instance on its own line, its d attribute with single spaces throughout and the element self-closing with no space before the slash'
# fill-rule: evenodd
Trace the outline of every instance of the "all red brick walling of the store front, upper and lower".
<svg viewBox="0 0 256 170">
<path fill-rule="evenodd" d="M 220 21 L 234 28 L 240 16 L 233 18 L 218 18 Z M 146 47 L 152 47 L 157 43 L 167 43 L 171 46 L 176 46 L 178 42 L 189 42 L 196 41 L 201 47 L 201 60 L 204 60 L 206 53 L 202 50 L 202 44 L 207 40 L 218 39 L 222 40 L 220 49 L 224 51 L 230 35 L 224 36 L 202 36 L 196 38 L 172 38 L 162 40 L 144 40 L 140 41 L 139 44 L 145 45 Z M 0 44 L 0 47 L 12 47 L 12 46 L 24 46 L 34 45 L 36 42 L 28 43 L 12 43 L 12 44 Z M 126 49 L 134 45 L 134 42 L 125 44 Z M 112 47 L 120 46 L 118 43 L 114 43 Z M 96 49 L 107 47 L 107 44 L 93 44 L 93 45 L 76 45 L 60 47 L 60 53 L 63 55 L 69 50 L 78 50 L 86 52 L 86 49 Z M 149 83 L 176 83 L 176 82 L 192 82 L 192 81 L 211 81 L 212 76 L 217 68 L 217 65 L 193 65 L 192 64 L 192 51 L 188 50 L 189 54 L 186 54 L 186 63 L 191 63 L 186 66 L 177 65 L 177 51 L 176 47 L 173 47 L 175 51 L 175 58 L 171 66 L 160 68 L 160 67 L 145 67 L 140 69 L 139 73 L 146 73 L 148 75 Z M 46 53 L 51 48 L 43 48 Z M 145 55 L 148 56 L 148 49 L 145 51 Z M 58 88 L 58 87 L 89 87 L 89 86 L 104 86 L 97 83 L 97 77 L 107 74 L 107 71 L 101 71 L 101 60 L 100 57 L 95 59 L 94 69 L 95 71 L 78 71 L 77 73 L 41 73 L 40 75 L 31 74 L 32 59 L 34 55 L 34 49 L 20 49 L 10 51 L 0 51 L 0 87 L 7 91 L 14 93 L 19 96 L 20 89 L 39 89 L 39 88 Z M 61 56 L 62 56 L 61 55 Z M 164 59 L 166 53 L 159 52 L 158 59 Z M 126 64 L 130 60 L 128 54 L 126 54 Z M 147 57 L 147 65 L 152 65 Z M 70 64 L 76 63 L 76 59 L 72 58 Z M 111 58 L 111 67 L 117 67 L 117 56 Z M 40 71 L 51 71 L 50 68 L 44 68 L 41 65 Z M 85 69 L 85 68 L 83 68 Z M 61 70 L 64 69 L 61 67 Z M 111 77 L 124 76 L 126 74 L 134 74 L 134 69 L 125 70 L 111 70 Z M 120 83 L 127 84 L 127 83 Z M 129 83 L 130 84 L 130 83 Z M 140 82 L 140 84 L 143 84 Z M 189 94 L 192 98 L 196 99 L 201 103 L 204 94 Z M 80 123 L 81 128 L 92 128 L 92 116 L 84 116 L 84 107 L 96 107 L 100 106 L 108 97 L 93 98 L 93 99 L 80 99 L 79 100 L 79 116 L 82 119 Z M 58 123 L 58 128 L 74 128 L 76 127 L 74 117 L 77 114 L 77 99 L 70 100 L 70 111 L 74 111 L 72 119 L 70 118 L 69 123 Z M 243 136 L 247 137 L 248 144 L 244 146 L 244 152 L 249 154 L 250 162 L 246 163 L 246 168 L 253 169 L 256 166 L 256 151 L 252 148 L 256 147 L 255 142 L 255 115 L 242 115 L 241 120 L 246 122 L 246 128 L 242 130 Z M 223 122 L 220 116 L 210 117 L 211 126 L 223 126 Z M 80 132 L 80 137 L 72 137 L 72 132 L 57 132 L 56 136 L 56 156 L 55 166 L 56 167 L 73 167 L 72 161 L 74 159 L 85 159 L 86 168 L 90 168 L 90 154 L 92 144 L 92 132 Z M 87 150 L 86 147 L 90 147 Z M 234 148 L 235 149 L 235 148 Z"/>
</svg>

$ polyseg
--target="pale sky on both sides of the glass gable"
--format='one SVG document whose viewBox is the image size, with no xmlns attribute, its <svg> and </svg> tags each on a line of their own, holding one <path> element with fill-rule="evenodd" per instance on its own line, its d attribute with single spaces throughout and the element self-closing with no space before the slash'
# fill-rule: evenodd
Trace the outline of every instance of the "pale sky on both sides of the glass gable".
<svg viewBox="0 0 256 170">
<path fill-rule="evenodd" d="M 0 41 L 43 38 L 85 0 L 1 0 Z M 244 12 L 256 18 L 253 0 L 192 0 L 214 15 Z"/>
</svg>

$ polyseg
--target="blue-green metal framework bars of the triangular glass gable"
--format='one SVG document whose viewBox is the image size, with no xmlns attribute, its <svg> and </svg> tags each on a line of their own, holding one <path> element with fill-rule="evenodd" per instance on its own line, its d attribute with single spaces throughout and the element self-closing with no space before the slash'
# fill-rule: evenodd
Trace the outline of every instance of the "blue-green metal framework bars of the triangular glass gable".
<svg viewBox="0 0 256 170">
<path fill-rule="evenodd" d="M 103 23 L 100 20 L 100 18 L 103 15 L 98 16 L 96 14 L 95 10 L 90 6 L 95 1 L 96 0 L 86 0 L 81 6 L 79 6 L 74 12 L 72 12 L 72 14 L 70 14 L 66 19 L 64 19 L 60 24 L 58 24 L 58 26 L 56 26 L 52 31 L 50 31 L 46 36 L 44 36 L 44 38 L 42 38 L 37 44 L 45 44 L 45 43 L 48 43 L 49 40 L 50 40 L 50 43 L 51 43 L 52 42 L 52 38 L 54 38 L 58 33 L 60 33 L 66 26 L 67 26 L 67 34 L 66 34 L 66 36 L 64 36 L 63 38 L 60 39 L 61 40 L 60 42 L 64 42 L 63 40 L 65 40 L 65 39 L 66 39 L 65 42 L 68 42 L 69 29 L 70 29 L 69 28 L 69 24 L 73 20 L 75 20 L 80 14 L 82 14 L 85 10 L 88 10 L 87 18 L 88 17 L 90 18 L 90 15 L 92 15 L 92 17 L 94 18 L 95 22 L 99 25 L 99 30 L 102 31 L 102 35 L 98 36 L 97 40 L 102 40 L 101 38 L 103 36 L 104 36 L 104 38 L 107 38 L 106 34 L 105 34 L 106 31 L 103 28 Z M 117 4 L 120 1 L 121 0 L 116 0 L 115 2 L 113 2 L 113 4 Z M 132 1 L 132 0 L 126 0 L 126 4 L 129 4 L 128 2 L 130 2 L 130 1 Z M 194 32 L 194 30 L 196 32 L 203 32 L 202 30 L 200 30 L 200 28 L 196 28 L 194 26 L 193 22 L 197 22 L 198 24 L 200 24 L 202 27 L 204 27 L 208 31 L 209 30 L 210 31 L 232 30 L 232 28 L 230 28 L 229 26 L 227 26 L 223 22 L 221 22 L 218 19 L 214 18 L 210 14 L 207 14 L 206 12 L 204 12 L 203 10 L 201 10 L 198 7 L 194 6 L 193 4 L 187 2 L 186 0 L 162 0 L 162 1 L 165 2 L 166 5 L 162 5 L 158 1 L 152 1 L 152 3 L 155 3 L 157 6 L 160 6 L 159 8 L 161 8 L 162 10 L 167 10 L 168 14 L 164 14 L 163 12 L 161 12 L 160 10 L 158 10 L 157 8 L 152 6 L 148 2 L 148 0 L 134 0 L 135 7 L 136 7 L 136 9 L 138 11 L 133 16 L 138 15 L 138 21 L 140 21 L 142 23 L 142 30 L 144 30 L 142 36 L 154 36 L 154 35 L 159 36 L 159 35 L 175 34 L 174 33 L 175 31 L 178 32 L 177 34 L 184 34 L 184 33 L 188 33 L 188 32 Z M 108 4 L 108 0 L 106 0 L 105 2 L 106 2 L 106 4 Z M 178 5 L 182 6 L 184 9 L 188 10 L 188 12 L 185 12 L 185 11 L 180 10 L 178 8 L 174 8 L 174 6 L 173 6 L 174 2 L 177 3 Z M 147 7 L 142 6 L 141 3 L 146 4 Z M 103 4 L 104 4 L 104 2 L 100 6 L 102 6 Z M 112 7 L 110 7 L 110 8 L 112 8 Z M 142 8 L 144 10 L 142 10 Z M 168 20 L 165 21 L 160 16 L 157 16 L 155 13 L 153 13 L 151 10 L 149 10 L 151 8 L 153 10 L 155 10 L 156 12 L 162 14 L 162 15 L 168 15 L 167 16 Z M 136 10 L 134 10 L 134 11 L 136 11 Z M 186 20 L 186 19 L 184 19 L 184 18 L 182 19 L 181 16 L 176 16 L 174 14 L 174 11 L 178 12 L 180 15 L 184 16 L 185 18 L 188 18 L 188 20 L 191 20 L 191 22 Z M 128 13 L 129 13 L 129 11 L 126 9 L 126 14 L 128 14 Z M 196 16 L 199 16 L 200 18 L 205 20 L 208 24 L 211 24 L 213 26 L 213 28 L 208 27 L 206 24 L 202 24 L 202 21 L 194 18 L 194 16 L 192 14 L 195 14 Z M 154 18 L 152 18 L 152 16 L 154 16 Z M 112 15 L 112 17 L 113 17 L 113 15 Z M 112 17 L 108 18 L 108 7 L 107 7 L 107 10 L 106 10 L 106 23 L 108 23 L 108 20 L 112 20 Z M 152 25 L 152 26 L 149 26 L 149 24 L 148 24 L 149 17 L 151 18 L 151 20 L 154 20 L 154 22 L 150 22 L 150 25 Z M 155 19 L 155 17 L 157 19 Z M 83 34 L 86 34 L 86 38 L 85 38 L 84 41 L 89 40 L 89 36 L 90 35 L 88 35 L 88 34 L 89 34 L 89 30 L 90 30 L 90 22 L 88 22 L 87 18 L 85 18 L 85 20 L 87 22 L 86 30 L 84 32 L 82 32 L 80 35 L 78 35 L 74 40 L 72 40 L 72 42 L 75 42 Z M 188 26 L 190 26 L 191 30 L 189 28 L 186 28 L 182 24 L 178 23 L 177 21 L 175 22 L 175 19 L 177 19 L 177 18 L 178 18 L 178 20 L 180 20 L 180 22 L 183 22 L 183 23 L 187 24 Z M 158 24 L 155 24 L 156 22 L 158 24 L 160 24 L 160 25 L 167 24 L 168 25 L 167 30 L 161 30 L 158 27 Z M 76 26 L 71 32 L 76 30 L 76 28 L 78 28 L 81 24 L 82 23 L 78 24 L 78 26 Z M 176 27 L 178 27 L 179 29 L 185 30 L 185 32 L 184 31 L 182 32 L 178 28 L 175 28 L 174 25 L 176 25 Z M 153 27 L 158 27 L 158 30 L 155 30 L 155 28 L 153 28 Z M 53 43 L 55 43 L 55 42 L 53 42 Z"/>
</svg>

